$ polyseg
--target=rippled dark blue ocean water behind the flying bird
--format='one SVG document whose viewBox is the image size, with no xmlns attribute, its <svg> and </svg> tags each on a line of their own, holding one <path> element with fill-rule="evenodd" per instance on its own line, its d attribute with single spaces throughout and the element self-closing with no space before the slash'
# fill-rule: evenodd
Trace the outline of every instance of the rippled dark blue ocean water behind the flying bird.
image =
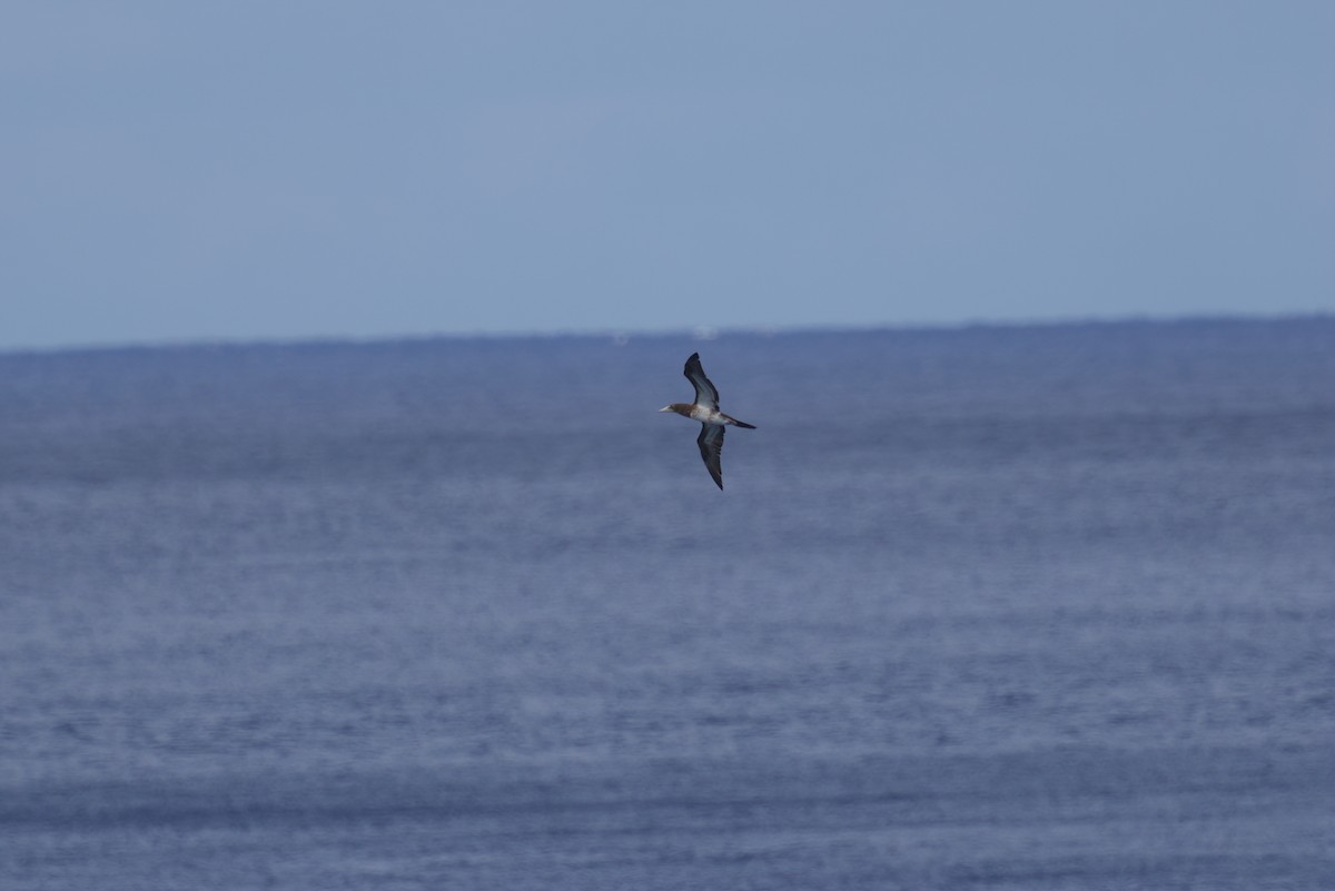
<svg viewBox="0 0 1335 891">
<path fill-rule="evenodd" d="M 0 680 L 9 891 L 1331 888 L 1335 320 L 4 355 Z"/>
</svg>

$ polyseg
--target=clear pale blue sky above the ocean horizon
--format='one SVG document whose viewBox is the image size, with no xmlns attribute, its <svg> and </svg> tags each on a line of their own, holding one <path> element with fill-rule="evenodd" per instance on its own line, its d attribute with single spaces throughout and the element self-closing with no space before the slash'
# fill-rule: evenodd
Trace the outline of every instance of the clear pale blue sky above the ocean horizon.
<svg viewBox="0 0 1335 891">
<path fill-rule="evenodd" d="M 0 349 L 1335 312 L 1335 4 L 0 7 Z"/>
</svg>

